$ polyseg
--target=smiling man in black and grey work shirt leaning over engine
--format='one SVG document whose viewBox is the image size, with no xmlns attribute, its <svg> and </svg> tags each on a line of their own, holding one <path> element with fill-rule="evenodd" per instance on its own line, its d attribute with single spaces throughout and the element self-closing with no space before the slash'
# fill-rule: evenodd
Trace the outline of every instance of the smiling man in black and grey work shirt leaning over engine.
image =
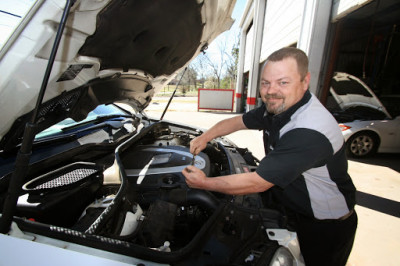
<svg viewBox="0 0 400 266">
<path fill-rule="evenodd" d="M 271 54 L 261 76 L 264 104 L 217 123 L 190 144 L 196 155 L 218 136 L 262 129 L 266 156 L 257 170 L 208 178 L 188 166 L 182 173 L 190 187 L 232 195 L 273 187 L 294 217 L 306 265 L 345 265 L 357 227 L 355 187 L 337 122 L 309 92 L 309 83 L 303 51 L 282 48 Z"/>
</svg>

